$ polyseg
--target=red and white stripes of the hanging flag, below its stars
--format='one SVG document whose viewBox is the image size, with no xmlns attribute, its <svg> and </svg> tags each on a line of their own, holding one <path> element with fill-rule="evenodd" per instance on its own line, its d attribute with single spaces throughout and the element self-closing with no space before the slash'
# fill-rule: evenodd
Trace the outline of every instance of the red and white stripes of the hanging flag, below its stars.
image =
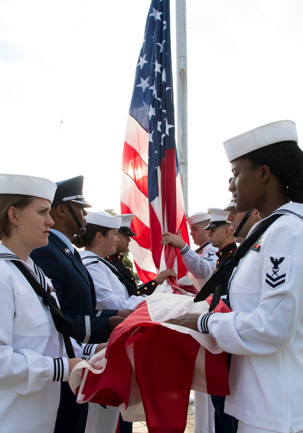
<svg viewBox="0 0 303 433">
<path fill-rule="evenodd" d="M 161 168 L 158 167 L 159 196 L 148 204 L 148 132 L 128 115 L 122 154 L 121 213 L 135 215 L 131 229 L 137 236 L 132 238 L 129 250 L 143 282 L 155 278 L 159 271 L 166 268 L 174 268 L 178 278 L 187 272 L 176 249 L 171 245 L 163 247 L 160 244 L 164 231 L 177 233 L 179 229 L 182 230 L 184 241 L 189 243 L 180 175 L 171 175 L 171 167 L 175 164 L 175 150 L 167 149 L 165 155 Z M 166 158 L 169 158 L 167 170 Z M 165 176 L 166 173 L 169 175 Z M 175 281 L 172 282 L 176 284 Z M 161 290 L 171 291 L 170 285 L 162 287 Z"/>
</svg>

